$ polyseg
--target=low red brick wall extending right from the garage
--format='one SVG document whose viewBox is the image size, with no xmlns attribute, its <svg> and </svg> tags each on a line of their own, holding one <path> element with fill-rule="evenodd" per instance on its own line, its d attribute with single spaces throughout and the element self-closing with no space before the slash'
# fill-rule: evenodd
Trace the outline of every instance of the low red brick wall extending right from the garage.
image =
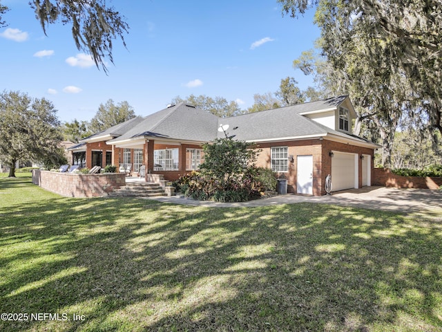
<svg viewBox="0 0 442 332">
<path fill-rule="evenodd" d="M 395 188 L 439 189 L 442 185 L 442 178 L 400 176 L 393 174 L 390 169 L 375 168 L 374 185 Z"/>
</svg>

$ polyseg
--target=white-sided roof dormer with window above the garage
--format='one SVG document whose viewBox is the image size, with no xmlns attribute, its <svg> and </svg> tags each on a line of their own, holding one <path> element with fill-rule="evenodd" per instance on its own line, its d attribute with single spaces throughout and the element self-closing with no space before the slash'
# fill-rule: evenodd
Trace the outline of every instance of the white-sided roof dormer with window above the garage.
<svg viewBox="0 0 442 332">
<path fill-rule="evenodd" d="M 352 133 L 352 120 L 356 118 L 356 112 L 348 97 L 336 104 L 325 103 L 320 109 L 299 114 L 343 133 Z"/>
</svg>

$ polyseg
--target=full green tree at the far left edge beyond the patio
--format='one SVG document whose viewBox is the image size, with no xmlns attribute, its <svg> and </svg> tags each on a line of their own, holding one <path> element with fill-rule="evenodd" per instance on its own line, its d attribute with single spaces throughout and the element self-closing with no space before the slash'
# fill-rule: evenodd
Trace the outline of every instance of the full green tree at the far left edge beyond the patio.
<svg viewBox="0 0 442 332">
<path fill-rule="evenodd" d="M 18 91 L 0 94 L 0 158 L 15 177 L 18 160 L 52 163 L 63 158 L 59 120 L 54 105 L 42 98 L 32 99 Z"/>
</svg>

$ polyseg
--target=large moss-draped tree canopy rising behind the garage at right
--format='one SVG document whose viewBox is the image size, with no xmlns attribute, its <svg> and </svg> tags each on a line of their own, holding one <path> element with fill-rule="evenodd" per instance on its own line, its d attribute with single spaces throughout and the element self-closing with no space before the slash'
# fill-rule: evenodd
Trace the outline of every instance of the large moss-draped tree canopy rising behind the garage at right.
<svg viewBox="0 0 442 332">
<path fill-rule="evenodd" d="M 325 73 L 327 89 L 352 95 L 358 116 L 356 134 L 363 120 L 371 122 L 367 127 L 376 128 L 384 147 L 383 165 L 391 165 L 395 132 L 403 116 L 412 118 L 412 127 L 438 139 L 434 131 L 442 132 L 440 1 L 278 3 L 293 17 L 316 7 L 319 45 L 326 60 L 325 66 L 316 69 Z M 309 54 L 294 64 L 305 73 L 314 68 Z"/>
</svg>

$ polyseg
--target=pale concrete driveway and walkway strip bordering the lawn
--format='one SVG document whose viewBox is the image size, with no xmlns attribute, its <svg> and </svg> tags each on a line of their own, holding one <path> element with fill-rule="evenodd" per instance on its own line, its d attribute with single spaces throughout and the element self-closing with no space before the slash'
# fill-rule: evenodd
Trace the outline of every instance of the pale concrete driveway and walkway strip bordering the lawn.
<svg viewBox="0 0 442 332">
<path fill-rule="evenodd" d="M 425 189 L 398 189 L 386 187 L 363 187 L 362 189 L 334 192 L 331 196 L 278 195 L 268 199 L 257 199 L 243 203 L 215 203 L 194 201 L 183 196 L 151 197 L 155 201 L 194 206 L 241 208 L 280 205 L 300 202 L 334 204 L 397 212 L 433 212 L 442 216 L 442 191 Z"/>
</svg>

